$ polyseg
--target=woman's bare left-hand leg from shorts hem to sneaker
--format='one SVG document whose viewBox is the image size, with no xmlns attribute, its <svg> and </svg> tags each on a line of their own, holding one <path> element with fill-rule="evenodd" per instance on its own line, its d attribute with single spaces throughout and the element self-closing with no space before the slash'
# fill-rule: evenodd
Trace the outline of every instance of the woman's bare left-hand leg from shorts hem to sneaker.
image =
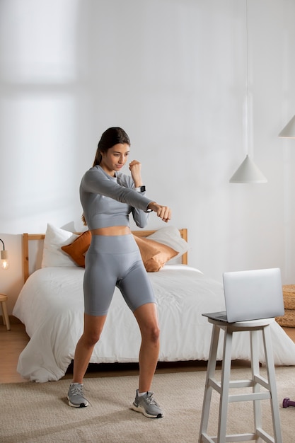
<svg viewBox="0 0 295 443">
<path fill-rule="evenodd" d="M 84 314 L 84 330 L 76 345 L 74 356 L 73 383 L 83 383 L 83 376 L 91 359 L 93 347 L 100 338 L 106 318 L 107 316 L 89 316 L 87 313 Z"/>
</svg>

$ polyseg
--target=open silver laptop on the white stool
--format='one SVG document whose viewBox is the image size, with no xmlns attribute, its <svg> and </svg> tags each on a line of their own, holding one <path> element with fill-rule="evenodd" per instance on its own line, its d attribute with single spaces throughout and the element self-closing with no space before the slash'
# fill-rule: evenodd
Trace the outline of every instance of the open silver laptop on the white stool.
<svg viewBox="0 0 295 443">
<path fill-rule="evenodd" d="M 203 316 L 234 323 L 284 315 L 279 268 L 224 272 L 223 279 L 226 311 Z"/>
</svg>

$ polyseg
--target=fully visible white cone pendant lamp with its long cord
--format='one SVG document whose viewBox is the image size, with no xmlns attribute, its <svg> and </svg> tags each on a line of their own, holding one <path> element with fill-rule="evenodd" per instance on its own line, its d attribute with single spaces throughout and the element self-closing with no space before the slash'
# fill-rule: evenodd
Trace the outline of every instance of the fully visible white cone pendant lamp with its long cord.
<svg viewBox="0 0 295 443">
<path fill-rule="evenodd" d="M 255 165 L 254 161 L 250 159 L 248 155 L 249 151 L 249 110 L 248 110 L 248 1 L 245 0 L 245 16 L 246 16 L 246 97 L 245 97 L 245 120 L 246 120 L 246 141 L 247 141 L 247 155 L 245 160 L 238 167 L 236 172 L 233 174 L 229 183 L 267 183 L 267 179 L 259 170 L 258 166 Z"/>
</svg>

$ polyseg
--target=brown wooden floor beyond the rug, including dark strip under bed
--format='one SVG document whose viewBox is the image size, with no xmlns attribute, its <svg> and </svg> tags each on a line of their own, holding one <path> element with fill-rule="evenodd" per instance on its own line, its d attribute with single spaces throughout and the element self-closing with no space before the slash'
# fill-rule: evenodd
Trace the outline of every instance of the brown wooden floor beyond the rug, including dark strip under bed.
<svg viewBox="0 0 295 443">
<path fill-rule="evenodd" d="M 284 328 L 291 340 L 295 342 L 295 328 Z M 12 323 L 11 330 L 6 330 L 6 326 L 0 325 L 0 383 L 17 383 L 26 381 L 16 371 L 18 356 L 29 341 L 25 333 L 25 327 L 21 323 Z M 248 362 L 235 362 L 234 366 L 242 366 Z M 187 372 L 202 371 L 207 369 L 207 362 L 175 362 L 158 364 L 157 373 L 163 372 Z M 88 370 L 86 376 L 118 376 L 137 374 L 137 364 L 103 364 L 93 365 Z M 71 372 L 64 378 L 71 379 Z"/>
</svg>

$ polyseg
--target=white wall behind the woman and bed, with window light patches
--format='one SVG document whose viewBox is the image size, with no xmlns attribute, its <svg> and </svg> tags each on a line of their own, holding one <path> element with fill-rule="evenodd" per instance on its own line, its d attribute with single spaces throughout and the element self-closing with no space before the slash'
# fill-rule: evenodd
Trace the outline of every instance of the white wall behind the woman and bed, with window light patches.
<svg viewBox="0 0 295 443">
<path fill-rule="evenodd" d="M 234 185 L 245 158 L 245 0 L 0 0 L 0 270 L 9 310 L 21 234 L 81 229 L 79 183 L 100 134 L 122 126 L 149 196 L 189 229 L 189 263 L 281 267 L 295 282 L 295 2 L 248 0 L 249 154 L 265 185 Z M 162 226 L 152 217 L 151 229 Z"/>
</svg>

